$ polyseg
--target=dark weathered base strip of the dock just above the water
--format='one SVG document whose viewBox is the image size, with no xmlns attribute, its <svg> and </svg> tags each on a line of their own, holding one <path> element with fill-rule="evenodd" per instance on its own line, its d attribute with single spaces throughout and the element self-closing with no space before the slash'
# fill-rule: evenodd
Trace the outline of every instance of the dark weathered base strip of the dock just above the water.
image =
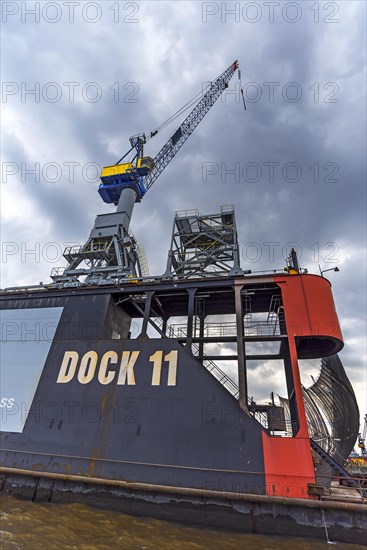
<svg viewBox="0 0 367 550">
<path fill-rule="evenodd" d="M 99 480 L 63 481 L 55 477 L 2 474 L 2 491 L 35 502 L 84 503 L 131 514 L 213 529 L 260 535 L 312 537 L 364 545 L 366 506 L 212 491 L 185 491 Z M 122 483 L 121 483 L 122 484 Z"/>
</svg>

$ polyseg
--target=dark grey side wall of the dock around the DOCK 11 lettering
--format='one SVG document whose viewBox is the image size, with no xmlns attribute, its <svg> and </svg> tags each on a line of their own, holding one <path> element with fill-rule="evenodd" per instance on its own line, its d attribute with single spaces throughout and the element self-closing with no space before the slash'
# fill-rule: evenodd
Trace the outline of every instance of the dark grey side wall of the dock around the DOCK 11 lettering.
<svg viewBox="0 0 367 550">
<path fill-rule="evenodd" d="M 265 494 L 260 424 L 175 340 L 104 339 L 110 301 L 105 293 L 8 302 L 23 309 L 35 304 L 64 309 L 24 429 L 1 435 L 2 465 L 34 469 L 36 464 L 41 471 L 195 488 L 217 489 L 220 479 L 227 490 L 249 492 L 249 485 L 251 492 Z M 102 338 L 87 339 L 92 332 Z M 70 350 L 79 354 L 75 375 L 58 383 Z M 98 362 L 83 384 L 77 376 L 80 360 L 91 350 Z M 178 352 L 176 385 L 167 385 L 163 365 L 160 384 L 153 386 L 149 357 L 173 350 Z M 118 384 L 119 364 L 111 367 L 114 380 L 99 381 L 100 359 L 107 351 L 116 351 L 119 363 L 123 352 L 139 352 L 135 384 L 127 378 Z M 3 413 L 6 429 L 14 414 Z"/>
</svg>

